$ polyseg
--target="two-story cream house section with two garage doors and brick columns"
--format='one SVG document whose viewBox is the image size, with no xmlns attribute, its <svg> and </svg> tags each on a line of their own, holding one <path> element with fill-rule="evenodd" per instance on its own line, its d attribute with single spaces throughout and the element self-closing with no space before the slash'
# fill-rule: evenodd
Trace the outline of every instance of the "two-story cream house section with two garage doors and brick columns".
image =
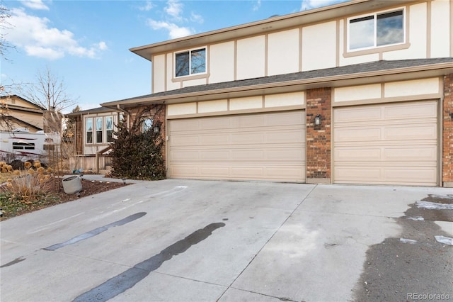
<svg viewBox="0 0 453 302">
<path fill-rule="evenodd" d="M 453 186 L 453 4 L 354 0 L 132 48 L 170 178 Z"/>
</svg>

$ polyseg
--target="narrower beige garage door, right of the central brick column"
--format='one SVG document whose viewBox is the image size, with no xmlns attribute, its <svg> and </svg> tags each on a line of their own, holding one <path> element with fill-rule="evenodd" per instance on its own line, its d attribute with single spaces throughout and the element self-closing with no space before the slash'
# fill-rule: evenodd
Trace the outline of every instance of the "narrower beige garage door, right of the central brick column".
<svg viewBox="0 0 453 302">
<path fill-rule="evenodd" d="M 437 185 L 437 101 L 335 108 L 333 179 Z"/>
</svg>

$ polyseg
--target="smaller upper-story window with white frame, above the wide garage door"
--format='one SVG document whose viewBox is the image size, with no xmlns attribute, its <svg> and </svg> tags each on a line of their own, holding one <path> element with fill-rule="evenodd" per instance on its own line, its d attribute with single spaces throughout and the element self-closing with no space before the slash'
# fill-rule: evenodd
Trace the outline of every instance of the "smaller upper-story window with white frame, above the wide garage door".
<svg viewBox="0 0 453 302">
<path fill-rule="evenodd" d="M 175 55 L 175 77 L 206 72 L 206 48 L 178 52 Z"/>
</svg>

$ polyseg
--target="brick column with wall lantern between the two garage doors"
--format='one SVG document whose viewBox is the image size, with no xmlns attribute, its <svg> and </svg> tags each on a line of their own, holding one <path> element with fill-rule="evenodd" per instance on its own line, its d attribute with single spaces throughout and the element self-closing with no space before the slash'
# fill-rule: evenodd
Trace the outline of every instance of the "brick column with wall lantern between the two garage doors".
<svg viewBox="0 0 453 302">
<path fill-rule="evenodd" d="M 320 114 L 321 125 L 314 119 Z M 331 183 L 331 89 L 306 91 L 306 183 Z"/>
</svg>

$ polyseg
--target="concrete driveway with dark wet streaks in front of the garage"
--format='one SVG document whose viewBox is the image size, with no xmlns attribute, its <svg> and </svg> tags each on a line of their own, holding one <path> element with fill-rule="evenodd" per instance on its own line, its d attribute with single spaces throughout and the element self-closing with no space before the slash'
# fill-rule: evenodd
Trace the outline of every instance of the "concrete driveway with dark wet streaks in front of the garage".
<svg viewBox="0 0 453 302">
<path fill-rule="evenodd" d="M 144 181 L 1 222 L 0 298 L 453 299 L 452 203 L 442 188 Z"/>
</svg>

